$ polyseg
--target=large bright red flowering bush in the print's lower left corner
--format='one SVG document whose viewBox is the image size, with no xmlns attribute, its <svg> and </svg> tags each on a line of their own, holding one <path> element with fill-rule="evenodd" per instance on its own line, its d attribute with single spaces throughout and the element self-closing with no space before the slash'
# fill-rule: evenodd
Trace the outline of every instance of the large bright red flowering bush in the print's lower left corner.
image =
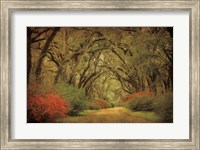
<svg viewBox="0 0 200 150">
<path fill-rule="evenodd" d="M 69 105 L 56 94 L 35 94 L 28 98 L 28 122 L 56 122 L 66 116 Z"/>
</svg>

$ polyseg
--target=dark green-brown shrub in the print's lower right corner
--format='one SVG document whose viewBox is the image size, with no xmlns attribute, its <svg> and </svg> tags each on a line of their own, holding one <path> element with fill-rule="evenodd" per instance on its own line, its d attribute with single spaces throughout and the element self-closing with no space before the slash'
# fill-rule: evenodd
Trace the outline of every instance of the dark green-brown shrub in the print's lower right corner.
<svg viewBox="0 0 200 150">
<path fill-rule="evenodd" d="M 154 111 L 160 115 L 163 122 L 173 122 L 173 95 L 166 93 L 155 97 Z"/>
</svg>

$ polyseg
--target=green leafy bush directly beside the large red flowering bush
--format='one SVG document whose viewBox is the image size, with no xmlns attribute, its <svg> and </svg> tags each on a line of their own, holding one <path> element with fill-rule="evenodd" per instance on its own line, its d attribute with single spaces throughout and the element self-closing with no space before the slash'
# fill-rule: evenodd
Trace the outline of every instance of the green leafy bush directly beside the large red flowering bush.
<svg viewBox="0 0 200 150">
<path fill-rule="evenodd" d="M 70 103 L 70 115 L 76 115 L 79 112 L 87 109 L 87 96 L 84 89 L 74 87 L 72 85 L 58 84 L 56 85 L 59 93 L 66 101 Z"/>
</svg>

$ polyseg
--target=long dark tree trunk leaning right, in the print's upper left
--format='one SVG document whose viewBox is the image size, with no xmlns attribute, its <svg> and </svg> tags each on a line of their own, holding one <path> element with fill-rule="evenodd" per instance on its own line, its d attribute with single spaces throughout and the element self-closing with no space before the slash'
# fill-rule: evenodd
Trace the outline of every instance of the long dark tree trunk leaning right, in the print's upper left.
<svg viewBox="0 0 200 150">
<path fill-rule="evenodd" d="M 48 48 L 50 43 L 53 41 L 54 37 L 56 36 L 57 32 L 59 31 L 60 28 L 56 27 L 53 29 L 53 32 L 51 33 L 51 35 L 48 37 L 44 48 L 42 49 L 40 58 L 38 60 L 37 66 L 36 66 L 36 70 L 35 70 L 35 77 L 36 77 L 36 82 L 37 83 L 41 83 L 41 72 L 42 72 L 42 64 L 44 61 L 44 58 L 48 52 Z"/>
</svg>

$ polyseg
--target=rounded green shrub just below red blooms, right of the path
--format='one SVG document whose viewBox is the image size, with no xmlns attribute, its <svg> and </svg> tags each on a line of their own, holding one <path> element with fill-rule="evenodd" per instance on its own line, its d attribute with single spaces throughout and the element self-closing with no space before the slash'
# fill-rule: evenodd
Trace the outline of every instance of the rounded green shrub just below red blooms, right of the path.
<svg viewBox="0 0 200 150">
<path fill-rule="evenodd" d="M 129 109 L 133 111 L 152 111 L 153 98 L 148 96 L 140 96 L 129 102 Z"/>
</svg>

